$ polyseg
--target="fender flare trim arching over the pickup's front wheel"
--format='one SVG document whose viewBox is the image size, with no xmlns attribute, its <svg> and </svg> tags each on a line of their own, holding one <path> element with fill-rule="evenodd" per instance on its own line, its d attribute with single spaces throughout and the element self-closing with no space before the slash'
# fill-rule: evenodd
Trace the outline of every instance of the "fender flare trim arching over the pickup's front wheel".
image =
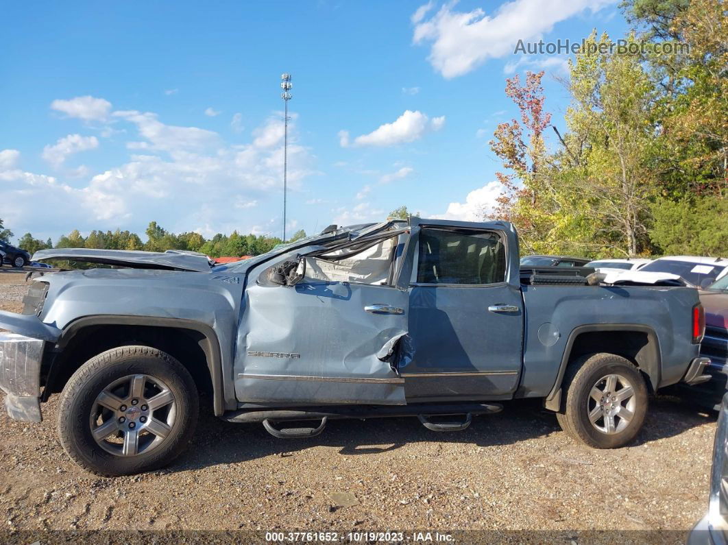
<svg viewBox="0 0 728 545">
<path fill-rule="evenodd" d="M 212 327 L 201 322 L 182 318 L 154 317 L 154 316 L 127 316 L 116 314 L 95 314 L 84 316 L 70 322 L 58 338 L 56 350 L 63 349 L 79 331 L 85 327 L 95 325 L 140 325 L 145 327 L 174 327 L 197 331 L 202 334 L 207 342 L 202 346 L 207 359 L 207 370 L 210 371 L 210 381 L 213 383 L 213 407 L 215 416 L 225 413 L 225 397 L 223 391 L 222 353 L 218 335 Z"/>
</svg>

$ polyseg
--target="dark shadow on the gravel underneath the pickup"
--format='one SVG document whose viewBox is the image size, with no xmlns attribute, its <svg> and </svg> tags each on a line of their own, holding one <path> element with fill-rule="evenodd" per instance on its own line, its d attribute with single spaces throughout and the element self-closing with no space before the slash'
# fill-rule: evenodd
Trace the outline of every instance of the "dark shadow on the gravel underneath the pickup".
<svg viewBox="0 0 728 545">
<path fill-rule="evenodd" d="M 652 397 L 650 402 L 644 427 L 630 446 L 673 437 L 692 427 L 716 421 L 716 413 L 705 413 L 676 397 Z M 563 434 L 565 443 L 574 443 L 561 431 L 553 413 L 542 410 L 539 400 L 521 399 L 504 405 L 501 413 L 473 418 L 472 425 L 465 431 L 429 431 L 416 418 L 373 418 L 329 421 L 322 434 L 309 439 L 276 439 L 260 424 L 228 423 L 215 418 L 211 410 L 203 410 L 189 449 L 164 472 L 235 464 L 266 456 L 293 456 L 298 450 L 315 446 L 338 448 L 341 456 L 376 456 L 416 442 L 490 447 Z M 706 445 L 706 448 L 710 447 Z"/>
</svg>

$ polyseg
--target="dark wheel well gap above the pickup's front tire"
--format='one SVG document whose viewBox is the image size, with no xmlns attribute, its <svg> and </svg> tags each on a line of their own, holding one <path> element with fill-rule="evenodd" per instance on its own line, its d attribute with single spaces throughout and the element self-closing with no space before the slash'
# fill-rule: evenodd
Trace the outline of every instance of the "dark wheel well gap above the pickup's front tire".
<svg viewBox="0 0 728 545">
<path fill-rule="evenodd" d="M 183 327 L 88 325 L 77 330 L 45 370 L 43 399 L 63 390 L 68 379 L 92 357 L 119 346 L 141 344 L 167 352 L 189 370 L 200 393 L 213 393 L 208 339 Z"/>
</svg>

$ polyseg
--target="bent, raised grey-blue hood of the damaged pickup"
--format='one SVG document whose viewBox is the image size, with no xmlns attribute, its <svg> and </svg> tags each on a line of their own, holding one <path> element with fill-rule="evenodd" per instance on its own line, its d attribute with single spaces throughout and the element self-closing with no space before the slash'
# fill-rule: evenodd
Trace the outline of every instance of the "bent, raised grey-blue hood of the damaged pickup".
<svg viewBox="0 0 728 545">
<path fill-rule="evenodd" d="M 210 272 L 207 255 L 183 250 L 138 252 L 135 250 L 93 250 L 89 248 L 54 248 L 38 250 L 33 261 L 68 259 L 84 263 L 100 263 L 130 268 L 162 268 L 173 271 Z"/>
</svg>

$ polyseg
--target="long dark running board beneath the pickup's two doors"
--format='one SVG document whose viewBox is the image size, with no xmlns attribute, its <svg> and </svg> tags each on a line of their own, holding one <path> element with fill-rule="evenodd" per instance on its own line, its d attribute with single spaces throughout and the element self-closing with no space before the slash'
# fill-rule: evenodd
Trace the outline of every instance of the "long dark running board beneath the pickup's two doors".
<svg viewBox="0 0 728 545">
<path fill-rule="evenodd" d="M 340 420 L 344 418 L 390 418 L 427 415 L 483 415 L 499 413 L 503 405 L 497 403 L 416 403 L 414 405 L 329 405 L 315 407 L 290 407 L 268 410 L 256 408 L 225 413 L 220 418 L 236 423 L 285 422 L 298 420 Z M 462 426 L 462 423 L 459 423 Z"/>
</svg>

